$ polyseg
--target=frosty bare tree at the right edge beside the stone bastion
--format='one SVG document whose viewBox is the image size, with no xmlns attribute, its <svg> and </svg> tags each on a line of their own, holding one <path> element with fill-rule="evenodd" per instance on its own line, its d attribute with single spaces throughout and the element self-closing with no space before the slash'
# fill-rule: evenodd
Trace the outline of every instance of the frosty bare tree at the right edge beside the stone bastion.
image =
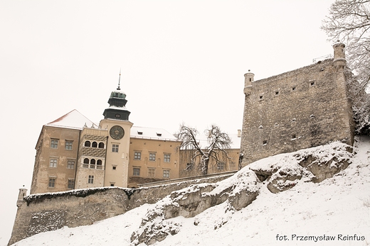
<svg viewBox="0 0 370 246">
<path fill-rule="evenodd" d="M 370 83 L 370 0 L 334 1 L 322 30 L 329 40 L 346 45 L 346 59 L 354 75 L 348 81 L 356 133 L 369 134 L 370 98 L 365 90 Z"/>
</svg>

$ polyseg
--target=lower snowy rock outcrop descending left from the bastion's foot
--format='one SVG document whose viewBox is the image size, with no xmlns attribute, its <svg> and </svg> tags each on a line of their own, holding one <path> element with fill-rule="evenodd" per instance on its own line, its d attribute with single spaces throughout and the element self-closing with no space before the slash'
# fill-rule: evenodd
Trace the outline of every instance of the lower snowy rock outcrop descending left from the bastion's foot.
<svg viewBox="0 0 370 246">
<path fill-rule="evenodd" d="M 181 225 L 170 218 L 184 216 L 190 218 L 218 204 L 227 203 L 227 210 L 240 210 L 256 199 L 259 181 L 255 173 L 243 169 L 233 177 L 217 184 L 197 184 L 172 192 L 147 212 L 139 229 L 132 233 L 134 245 L 144 242 L 151 245 L 164 240 L 166 235 L 179 232 Z"/>
</svg>

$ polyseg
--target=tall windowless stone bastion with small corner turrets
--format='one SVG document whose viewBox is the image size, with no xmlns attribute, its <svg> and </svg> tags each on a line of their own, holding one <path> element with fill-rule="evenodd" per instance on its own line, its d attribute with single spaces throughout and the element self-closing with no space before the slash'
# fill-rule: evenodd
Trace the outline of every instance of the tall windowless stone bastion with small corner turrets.
<svg viewBox="0 0 370 246">
<path fill-rule="evenodd" d="M 245 74 L 241 167 L 272 155 L 354 141 L 344 45 L 334 59 L 254 81 Z"/>
</svg>

